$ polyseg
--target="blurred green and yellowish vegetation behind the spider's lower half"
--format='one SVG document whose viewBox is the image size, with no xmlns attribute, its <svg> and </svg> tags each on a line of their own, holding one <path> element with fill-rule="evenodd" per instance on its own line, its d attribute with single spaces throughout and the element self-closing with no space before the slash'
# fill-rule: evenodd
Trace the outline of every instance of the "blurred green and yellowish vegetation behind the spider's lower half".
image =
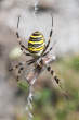
<svg viewBox="0 0 79 120">
<path fill-rule="evenodd" d="M 34 120 L 79 120 L 79 56 L 65 57 L 52 65 L 63 77 L 69 97 L 62 96 L 58 89 L 50 85 L 40 85 L 34 96 Z M 27 89 L 25 84 L 18 83 L 18 86 Z M 17 120 L 26 119 L 26 113 L 17 117 Z"/>
</svg>

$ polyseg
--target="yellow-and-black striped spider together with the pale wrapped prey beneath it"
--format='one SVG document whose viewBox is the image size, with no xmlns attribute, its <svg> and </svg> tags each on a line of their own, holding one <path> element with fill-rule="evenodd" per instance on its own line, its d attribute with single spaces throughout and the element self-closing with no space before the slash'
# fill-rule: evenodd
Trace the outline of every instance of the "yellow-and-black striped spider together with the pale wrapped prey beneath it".
<svg viewBox="0 0 79 120">
<path fill-rule="evenodd" d="M 28 64 L 28 67 L 34 64 L 35 69 L 30 70 L 29 74 L 26 76 L 26 80 L 29 83 L 29 85 L 32 85 L 35 80 L 37 80 L 38 75 L 42 72 L 42 70 L 47 69 L 48 72 L 50 72 L 51 75 L 53 76 L 53 80 L 56 82 L 56 84 L 61 87 L 60 85 L 61 80 L 56 76 L 55 72 L 52 70 L 50 65 L 50 62 L 52 62 L 54 58 L 49 56 L 50 51 L 54 47 L 52 46 L 49 48 L 53 34 L 53 17 L 52 17 L 52 28 L 50 31 L 48 43 L 45 44 L 43 34 L 39 31 L 36 31 L 30 35 L 27 47 L 23 45 L 22 38 L 18 33 L 19 20 L 21 16 L 18 16 L 17 20 L 17 32 L 16 32 L 17 40 L 23 53 L 26 57 L 30 56 L 32 59 L 25 61 L 25 63 L 23 62 L 17 63 L 15 67 L 11 68 L 10 71 L 13 71 L 14 69 L 18 69 L 18 74 L 16 76 L 16 80 L 19 81 L 19 76 L 26 64 Z"/>
</svg>

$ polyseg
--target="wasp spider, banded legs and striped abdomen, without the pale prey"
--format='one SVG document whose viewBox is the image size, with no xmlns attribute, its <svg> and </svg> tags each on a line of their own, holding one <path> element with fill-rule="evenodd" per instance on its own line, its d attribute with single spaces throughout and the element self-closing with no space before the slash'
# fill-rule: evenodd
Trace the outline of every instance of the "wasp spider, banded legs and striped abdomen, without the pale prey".
<svg viewBox="0 0 79 120">
<path fill-rule="evenodd" d="M 44 64 L 44 62 L 43 62 L 43 58 L 47 57 L 49 55 L 49 52 L 52 50 L 52 47 L 49 48 L 49 46 L 50 46 L 50 43 L 52 39 L 52 34 L 53 34 L 53 17 L 52 17 L 52 28 L 50 31 L 48 44 L 45 44 L 45 39 L 44 39 L 44 36 L 42 35 L 42 33 L 37 31 L 30 35 L 30 37 L 28 39 L 28 47 L 23 45 L 22 38 L 19 37 L 19 34 L 18 34 L 19 20 L 21 20 L 21 16 L 18 17 L 18 21 L 17 21 L 16 36 L 17 36 L 17 40 L 18 40 L 19 46 L 21 46 L 21 50 L 23 51 L 23 53 L 25 56 L 31 56 L 32 57 L 32 59 L 26 61 L 26 63 L 28 65 L 35 63 L 36 64 L 35 69 L 37 68 L 39 70 L 41 70 L 43 67 L 47 68 L 47 70 L 51 73 L 51 75 L 53 76 L 55 82 L 58 84 L 60 79 L 55 75 L 55 72 L 51 69 L 51 67 L 49 64 L 47 64 L 47 63 Z M 48 50 L 48 48 L 49 48 L 49 50 Z M 17 81 L 18 81 L 21 73 L 24 70 L 24 65 L 23 65 L 23 63 L 18 63 L 14 68 L 11 68 L 10 71 L 12 71 L 16 68 L 19 68 L 18 69 L 18 75 L 17 75 Z"/>
</svg>

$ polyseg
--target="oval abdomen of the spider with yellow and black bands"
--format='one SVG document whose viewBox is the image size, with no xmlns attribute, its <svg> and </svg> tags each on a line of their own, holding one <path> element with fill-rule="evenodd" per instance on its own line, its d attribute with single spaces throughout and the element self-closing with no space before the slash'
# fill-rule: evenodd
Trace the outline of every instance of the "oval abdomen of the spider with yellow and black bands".
<svg viewBox="0 0 79 120">
<path fill-rule="evenodd" d="M 40 32 L 31 34 L 28 40 L 28 50 L 34 56 L 40 56 L 45 47 L 44 37 Z"/>
</svg>

